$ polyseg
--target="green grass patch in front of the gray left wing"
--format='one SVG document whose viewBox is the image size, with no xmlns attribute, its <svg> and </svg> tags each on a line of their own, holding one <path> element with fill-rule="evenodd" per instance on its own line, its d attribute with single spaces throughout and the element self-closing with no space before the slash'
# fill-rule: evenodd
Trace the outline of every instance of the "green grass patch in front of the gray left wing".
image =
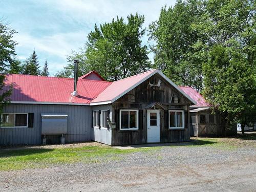
<svg viewBox="0 0 256 192">
<path fill-rule="evenodd" d="M 76 148 L 30 148 L 0 151 L 0 170 L 49 167 L 65 163 L 100 163 L 121 160 L 122 155 L 153 151 L 152 148 L 119 150 L 110 146 L 83 146 Z"/>
</svg>

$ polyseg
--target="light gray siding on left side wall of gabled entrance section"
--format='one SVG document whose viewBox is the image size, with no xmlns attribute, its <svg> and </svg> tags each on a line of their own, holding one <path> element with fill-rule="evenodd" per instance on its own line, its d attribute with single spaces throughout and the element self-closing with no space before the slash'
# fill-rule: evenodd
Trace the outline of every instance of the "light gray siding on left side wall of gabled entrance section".
<svg viewBox="0 0 256 192">
<path fill-rule="evenodd" d="M 93 110 L 101 110 L 101 111 L 110 110 L 110 118 L 112 118 L 112 105 L 106 104 L 106 105 L 92 106 L 91 111 Z M 111 137 L 112 137 L 111 129 L 109 130 L 105 128 L 98 129 L 97 127 L 92 127 L 91 129 L 91 140 L 93 141 L 111 145 Z"/>
</svg>

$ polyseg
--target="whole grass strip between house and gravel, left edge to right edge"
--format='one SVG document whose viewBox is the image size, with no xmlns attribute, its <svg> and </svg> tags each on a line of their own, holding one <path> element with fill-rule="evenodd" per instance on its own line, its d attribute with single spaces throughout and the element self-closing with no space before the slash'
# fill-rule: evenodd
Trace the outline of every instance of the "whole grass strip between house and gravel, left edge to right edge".
<svg viewBox="0 0 256 192">
<path fill-rule="evenodd" d="M 233 150 L 241 146 L 255 146 L 256 135 L 238 136 L 236 138 L 192 138 L 191 142 L 174 143 L 165 147 L 216 147 L 220 150 Z M 0 150 L 0 170 L 17 170 L 25 168 L 49 167 L 63 163 L 100 163 L 122 159 L 129 153 L 152 153 L 162 147 L 136 148 L 119 150 L 103 144 L 77 147 L 31 147 L 26 149 Z"/>
</svg>

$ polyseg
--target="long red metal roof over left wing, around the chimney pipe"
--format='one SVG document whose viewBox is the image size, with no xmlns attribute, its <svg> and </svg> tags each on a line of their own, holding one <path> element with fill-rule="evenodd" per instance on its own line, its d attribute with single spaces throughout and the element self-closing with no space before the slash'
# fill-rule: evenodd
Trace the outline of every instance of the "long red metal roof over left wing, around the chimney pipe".
<svg viewBox="0 0 256 192">
<path fill-rule="evenodd" d="M 72 97 L 73 78 L 44 77 L 32 75 L 6 75 L 6 84 L 13 83 L 11 101 L 90 103 L 90 101 L 108 87 L 111 82 L 78 79 L 79 96 Z"/>
</svg>

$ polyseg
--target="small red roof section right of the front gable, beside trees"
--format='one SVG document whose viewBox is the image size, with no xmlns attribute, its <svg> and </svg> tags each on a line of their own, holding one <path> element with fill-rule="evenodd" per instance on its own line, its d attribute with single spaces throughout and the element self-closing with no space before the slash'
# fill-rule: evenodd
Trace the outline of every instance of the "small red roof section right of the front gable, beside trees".
<svg viewBox="0 0 256 192">
<path fill-rule="evenodd" d="M 191 105 L 192 107 L 195 106 L 195 107 L 201 107 L 201 106 L 211 106 L 206 100 L 205 98 L 199 94 L 196 90 L 194 90 L 193 88 L 191 87 L 183 87 L 183 86 L 180 86 L 180 89 L 182 91 L 184 91 L 189 97 L 191 97 L 192 99 L 194 99 L 197 104 L 196 105 Z"/>
</svg>

